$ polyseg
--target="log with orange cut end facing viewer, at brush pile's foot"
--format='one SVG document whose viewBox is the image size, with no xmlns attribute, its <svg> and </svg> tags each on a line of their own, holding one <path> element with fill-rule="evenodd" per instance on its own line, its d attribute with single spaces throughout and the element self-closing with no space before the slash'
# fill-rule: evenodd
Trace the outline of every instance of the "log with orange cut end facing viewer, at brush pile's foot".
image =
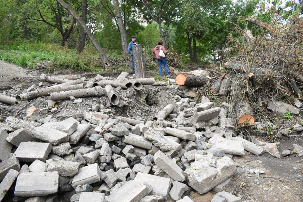
<svg viewBox="0 0 303 202">
<path fill-rule="evenodd" d="M 235 103 L 237 122 L 241 126 L 252 126 L 255 124 L 254 114 L 247 101 L 238 99 Z"/>
</svg>

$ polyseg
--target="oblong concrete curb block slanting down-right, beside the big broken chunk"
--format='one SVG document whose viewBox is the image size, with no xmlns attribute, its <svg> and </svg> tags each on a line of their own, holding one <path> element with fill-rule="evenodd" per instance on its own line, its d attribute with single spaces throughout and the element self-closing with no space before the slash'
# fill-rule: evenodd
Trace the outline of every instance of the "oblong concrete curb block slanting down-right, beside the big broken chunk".
<svg viewBox="0 0 303 202">
<path fill-rule="evenodd" d="M 169 159 L 163 152 L 158 151 L 154 156 L 155 163 L 171 178 L 183 182 L 185 180 L 183 170 L 178 167 L 176 162 Z"/>
</svg>

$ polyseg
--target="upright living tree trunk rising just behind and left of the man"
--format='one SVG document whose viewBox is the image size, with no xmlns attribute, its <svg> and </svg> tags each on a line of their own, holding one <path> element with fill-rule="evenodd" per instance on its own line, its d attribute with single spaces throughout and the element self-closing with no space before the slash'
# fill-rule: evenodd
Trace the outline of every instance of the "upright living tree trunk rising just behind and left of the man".
<svg viewBox="0 0 303 202">
<path fill-rule="evenodd" d="M 124 56 L 128 56 L 129 53 L 128 53 L 126 31 L 125 31 L 125 26 L 124 26 L 123 19 L 121 16 L 119 2 L 118 2 L 118 0 L 113 0 L 113 1 L 114 1 L 114 9 L 115 9 L 115 13 L 116 13 L 117 24 L 118 24 L 118 28 L 119 28 L 120 36 L 121 36 L 122 53 Z"/>
</svg>

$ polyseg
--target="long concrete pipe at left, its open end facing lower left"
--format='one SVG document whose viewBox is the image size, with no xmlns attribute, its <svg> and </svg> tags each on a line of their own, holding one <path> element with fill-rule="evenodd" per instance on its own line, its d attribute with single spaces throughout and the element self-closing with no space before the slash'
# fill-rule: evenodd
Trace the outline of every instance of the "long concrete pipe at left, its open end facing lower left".
<svg viewBox="0 0 303 202">
<path fill-rule="evenodd" d="M 70 91 L 84 88 L 84 84 L 76 84 L 70 86 L 51 86 L 47 88 L 39 88 L 38 90 L 31 91 L 28 93 L 22 93 L 16 96 L 18 102 L 24 100 L 32 100 L 42 96 L 48 96 L 50 93 L 59 92 L 59 91 Z"/>
</svg>

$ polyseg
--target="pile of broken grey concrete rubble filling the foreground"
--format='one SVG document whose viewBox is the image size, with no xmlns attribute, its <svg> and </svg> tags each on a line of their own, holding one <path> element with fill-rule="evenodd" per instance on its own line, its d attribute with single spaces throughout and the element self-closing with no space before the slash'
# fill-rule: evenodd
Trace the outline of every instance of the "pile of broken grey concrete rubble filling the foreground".
<svg viewBox="0 0 303 202">
<path fill-rule="evenodd" d="M 167 88 L 179 91 L 174 85 Z M 2 118 L 0 201 L 13 189 L 13 200 L 26 202 L 156 202 L 168 197 L 189 202 L 187 195 L 194 189 L 199 194 L 218 192 L 212 202 L 240 202 L 223 191 L 237 171 L 233 155 L 303 155 L 298 145 L 279 153 L 276 144 L 238 136 L 228 118 L 228 103 L 213 107 L 204 96 L 201 103 L 177 93 L 173 98 L 175 104 L 151 120 L 115 117 L 100 105 L 92 111 L 75 110 L 63 121 L 51 120 L 52 115 L 31 121 L 35 107 L 28 108 L 24 120 Z M 116 105 L 117 99 L 110 102 Z"/>
</svg>

